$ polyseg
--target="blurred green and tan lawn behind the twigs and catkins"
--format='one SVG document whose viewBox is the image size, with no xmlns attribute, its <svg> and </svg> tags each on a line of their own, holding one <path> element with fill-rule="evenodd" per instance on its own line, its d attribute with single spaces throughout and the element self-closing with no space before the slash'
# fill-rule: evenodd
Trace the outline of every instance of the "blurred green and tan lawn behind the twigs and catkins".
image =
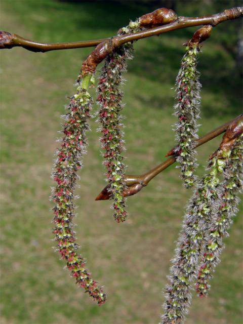
<svg viewBox="0 0 243 324">
<path fill-rule="evenodd" d="M 158 2 L 159 3 L 159 2 Z M 130 19 L 152 11 L 140 2 L 2 0 L 1 29 L 39 42 L 112 36 Z M 236 1 L 177 2 L 179 15 L 201 16 L 239 6 Z M 154 7 L 155 6 L 155 7 Z M 222 23 L 199 55 L 202 118 L 200 134 L 240 113 L 242 82 L 235 65 L 239 21 Z M 182 44 L 196 28 L 178 30 L 135 44 L 124 87 L 128 174 L 147 171 L 174 145 L 171 125 L 174 80 Z M 105 286 L 98 307 L 63 270 L 52 247 L 49 201 L 59 116 L 82 61 L 91 49 L 32 53 L 1 51 L 2 73 L 2 279 L 1 324 L 152 324 L 159 321 L 166 275 L 174 255 L 183 211 L 191 192 L 173 167 L 128 200 L 129 219 L 116 224 L 109 201 L 94 198 L 105 185 L 97 124 L 80 172 L 76 232 L 93 277 Z M 93 94 L 95 95 L 94 91 Z M 94 106 L 96 110 L 96 106 Z M 198 148 L 203 174 L 220 138 Z M 238 213 L 239 214 L 239 213 Z M 239 215 L 238 215 L 239 216 Z M 235 218 L 222 262 L 207 299 L 194 295 L 188 324 L 242 323 L 242 219 Z"/>
</svg>

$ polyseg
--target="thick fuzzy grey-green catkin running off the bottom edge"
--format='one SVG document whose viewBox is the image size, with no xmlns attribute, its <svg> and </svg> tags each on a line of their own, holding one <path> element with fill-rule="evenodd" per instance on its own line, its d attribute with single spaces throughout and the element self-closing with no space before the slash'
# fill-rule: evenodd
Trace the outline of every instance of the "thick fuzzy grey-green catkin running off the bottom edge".
<svg viewBox="0 0 243 324">
<path fill-rule="evenodd" d="M 213 157 L 209 163 L 209 173 L 198 181 L 196 190 L 189 201 L 177 242 L 176 254 L 172 260 L 171 275 L 168 277 L 165 312 L 161 316 L 161 324 L 182 324 L 188 312 L 191 300 L 190 283 L 196 277 L 211 217 L 218 208 L 219 177 L 225 170 L 225 160 L 229 153 L 219 151 Z"/>
</svg>

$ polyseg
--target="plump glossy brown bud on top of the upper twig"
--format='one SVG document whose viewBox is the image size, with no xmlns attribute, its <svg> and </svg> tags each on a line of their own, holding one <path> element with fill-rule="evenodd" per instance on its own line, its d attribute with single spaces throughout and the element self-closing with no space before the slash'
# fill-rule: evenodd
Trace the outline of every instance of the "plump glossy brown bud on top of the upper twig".
<svg viewBox="0 0 243 324">
<path fill-rule="evenodd" d="M 139 18 L 140 27 L 156 27 L 166 25 L 177 20 L 177 14 L 167 8 L 157 9 L 149 14 L 143 15 Z"/>
</svg>

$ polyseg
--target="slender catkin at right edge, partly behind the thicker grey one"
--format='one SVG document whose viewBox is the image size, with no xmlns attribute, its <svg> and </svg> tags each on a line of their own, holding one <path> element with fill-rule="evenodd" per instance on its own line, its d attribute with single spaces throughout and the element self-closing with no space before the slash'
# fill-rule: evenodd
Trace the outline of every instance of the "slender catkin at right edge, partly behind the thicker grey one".
<svg viewBox="0 0 243 324">
<path fill-rule="evenodd" d="M 200 297 L 208 295 L 209 280 L 224 249 L 223 238 L 228 236 L 232 218 L 237 212 L 237 195 L 243 187 L 243 135 L 235 142 L 223 175 L 220 206 L 211 219 L 210 234 L 197 275 L 196 291 Z"/>
</svg>

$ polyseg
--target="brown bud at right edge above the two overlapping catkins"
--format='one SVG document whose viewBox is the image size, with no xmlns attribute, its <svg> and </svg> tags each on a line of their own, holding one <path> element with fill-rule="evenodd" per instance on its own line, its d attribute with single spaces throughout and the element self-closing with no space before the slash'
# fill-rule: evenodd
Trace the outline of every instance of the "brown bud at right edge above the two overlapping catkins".
<svg viewBox="0 0 243 324">
<path fill-rule="evenodd" d="M 210 155 L 210 159 L 219 155 L 221 157 L 223 152 L 227 152 L 231 149 L 237 138 L 243 133 L 243 114 L 235 118 L 232 123 L 227 127 L 223 136 L 222 142 L 217 151 Z"/>
</svg>

